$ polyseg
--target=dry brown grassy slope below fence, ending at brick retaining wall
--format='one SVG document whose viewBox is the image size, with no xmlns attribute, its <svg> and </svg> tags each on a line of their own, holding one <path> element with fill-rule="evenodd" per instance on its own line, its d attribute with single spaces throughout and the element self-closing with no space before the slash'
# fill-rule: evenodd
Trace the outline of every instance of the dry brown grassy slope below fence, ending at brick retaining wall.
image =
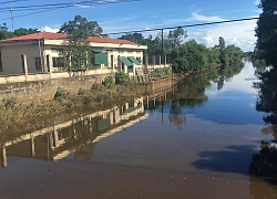
<svg viewBox="0 0 277 199">
<path fill-rule="evenodd" d="M 14 129 L 32 129 L 43 126 L 41 123 L 51 117 L 73 112 L 76 108 L 105 108 L 111 104 L 126 101 L 131 97 L 146 94 L 146 85 L 135 82 L 120 84 L 93 84 L 91 90 L 80 88 L 78 93 L 70 93 L 59 87 L 52 101 L 22 103 L 16 96 L 9 96 L 0 103 L 0 132 L 16 132 Z M 28 127 L 30 125 L 30 127 Z"/>
</svg>

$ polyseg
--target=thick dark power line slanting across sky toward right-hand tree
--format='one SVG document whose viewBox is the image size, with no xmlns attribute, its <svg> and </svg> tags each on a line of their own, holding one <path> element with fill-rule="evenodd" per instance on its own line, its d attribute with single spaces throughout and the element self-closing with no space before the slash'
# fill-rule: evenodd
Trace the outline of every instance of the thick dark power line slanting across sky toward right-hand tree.
<svg viewBox="0 0 277 199">
<path fill-rule="evenodd" d="M 171 29 L 177 29 L 177 28 L 204 27 L 204 25 L 232 23 L 232 22 L 249 21 L 249 20 L 257 20 L 257 19 L 259 19 L 259 18 L 258 17 L 256 17 L 256 18 L 243 18 L 243 19 L 224 20 L 224 21 L 215 21 L 215 22 L 207 22 L 207 23 L 195 23 L 195 24 L 186 24 L 186 25 L 177 25 L 177 27 L 144 29 L 144 30 L 136 30 L 136 31 L 111 32 L 111 33 L 106 33 L 106 34 L 112 35 L 112 34 L 130 34 L 130 33 L 140 33 L 140 32 L 153 32 L 153 31 L 163 31 L 163 30 L 171 30 Z"/>
</svg>

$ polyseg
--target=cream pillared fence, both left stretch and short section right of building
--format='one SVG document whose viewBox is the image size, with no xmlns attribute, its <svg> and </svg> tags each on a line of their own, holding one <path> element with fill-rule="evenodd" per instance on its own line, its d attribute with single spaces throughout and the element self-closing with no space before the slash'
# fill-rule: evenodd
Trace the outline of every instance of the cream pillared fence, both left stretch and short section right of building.
<svg viewBox="0 0 277 199">
<path fill-rule="evenodd" d="M 51 78 L 65 78 L 81 75 L 102 75 L 113 74 L 116 70 L 109 65 L 93 65 L 85 71 L 70 72 L 66 67 L 59 64 L 57 57 L 47 56 L 2 56 L 0 57 L 0 84 L 43 81 Z M 154 69 L 171 67 L 171 57 L 145 55 L 143 59 L 143 71 Z M 147 82 L 144 77 L 143 82 Z"/>
</svg>

